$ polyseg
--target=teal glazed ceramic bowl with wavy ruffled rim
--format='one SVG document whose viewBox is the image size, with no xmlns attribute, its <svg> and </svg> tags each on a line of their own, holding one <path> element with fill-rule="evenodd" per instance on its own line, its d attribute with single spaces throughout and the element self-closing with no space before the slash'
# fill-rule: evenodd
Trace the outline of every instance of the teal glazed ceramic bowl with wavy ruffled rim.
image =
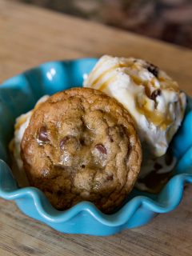
<svg viewBox="0 0 192 256">
<path fill-rule="evenodd" d="M 185 182 L 192 182 L 192 99 L 188 97 L 182 126 L 171 143 L 178 164 L 174 175 L 159 194 L 133 190 L 114 214 L 102 214 L 91 202 L 80 202 L 69 210 L 55 210 L 37 188 L 19 188 L 8 166 L 8 144 L 14 120 L 34 107 L 44 94 L 82 86 L 95 58 L 48 62 L 3 82 L 0 86 L 0 196 L 14 200 L 22 212 L 70 234 L 110 235 L 150 222 L 159 213 L 174 210 L 182 200 Z"/>
</svg>

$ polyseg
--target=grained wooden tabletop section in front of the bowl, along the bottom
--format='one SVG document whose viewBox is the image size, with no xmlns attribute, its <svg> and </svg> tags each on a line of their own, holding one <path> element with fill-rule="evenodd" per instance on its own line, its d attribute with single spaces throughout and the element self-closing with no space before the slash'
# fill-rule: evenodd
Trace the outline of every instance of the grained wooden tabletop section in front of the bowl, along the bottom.
<svg viewBox="0 0 192 256">
<path fill-rule="evenodd" d="M 0 255 L 185 255 L 192 249 L 192 187 L 177 210 L 110 237 L 61 234 L 0 199 Z M 179 254 L 178 254 L 179 253 Z"/>
</svg>

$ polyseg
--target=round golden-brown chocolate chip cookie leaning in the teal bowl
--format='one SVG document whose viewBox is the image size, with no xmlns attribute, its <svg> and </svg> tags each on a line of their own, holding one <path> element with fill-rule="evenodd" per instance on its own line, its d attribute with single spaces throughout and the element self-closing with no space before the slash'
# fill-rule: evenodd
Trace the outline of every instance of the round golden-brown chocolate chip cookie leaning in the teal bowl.
<svg viewBox="0 0 192 256">
<path fill-rule="evenodd" d="M 89 88 L 64 90 L 34 110 L 21 150 L 30 185 L 58 210 L 90 201 L 109 213 L 133 188 L 142 159 L 130 114 Z"/>
</svg>

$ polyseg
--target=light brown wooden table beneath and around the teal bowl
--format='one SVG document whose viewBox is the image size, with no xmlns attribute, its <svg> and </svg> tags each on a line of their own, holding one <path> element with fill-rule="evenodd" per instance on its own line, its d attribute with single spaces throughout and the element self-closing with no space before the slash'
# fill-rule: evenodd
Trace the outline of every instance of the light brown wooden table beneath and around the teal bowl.
<svg viewBox="0 0 192 256">
<path fill-rule="evenodd" d="M 94 22 L 0 0 L 0 83 L 50 60 L 113 54 L 146 58 L 192 94 L 192 51 Z M 110 237 L 60 234 L 0 199 L 0 255 L 192 255 L 192 186 L 177 210 Z"/>
</svg>

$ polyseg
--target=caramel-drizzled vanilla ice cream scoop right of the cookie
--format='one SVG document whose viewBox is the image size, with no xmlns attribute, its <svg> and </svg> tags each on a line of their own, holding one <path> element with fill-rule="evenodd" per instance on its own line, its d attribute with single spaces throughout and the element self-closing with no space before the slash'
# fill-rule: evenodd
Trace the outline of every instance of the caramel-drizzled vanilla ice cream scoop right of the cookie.
<svg viewBox="0 0 192 256">
<path fill-rule="evenodd" d="M 150 154 L 166 153 L 186 109 L 186 94 L 166 72 L 142 59 L 104 55 L 83 86 L 102 90 L 121 102 Z"/>
</svg>

